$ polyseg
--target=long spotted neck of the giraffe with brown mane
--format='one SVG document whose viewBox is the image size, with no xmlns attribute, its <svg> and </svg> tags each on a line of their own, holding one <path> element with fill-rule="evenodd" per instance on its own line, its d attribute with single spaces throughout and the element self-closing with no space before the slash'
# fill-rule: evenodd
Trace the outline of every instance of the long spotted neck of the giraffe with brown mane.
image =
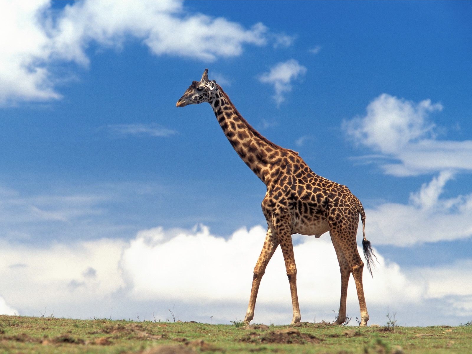
<svg viewBox="0 0 472 354">
<path fill-rule="evenodd" d="M 229 143 L 233 146 L 244 163 L 267 184 L 270 166 L 280 157 L 284 149 L 255 130 L 236 110 L 228 95 L 218 85 L 219 93 L 210 102 L 218 123 Z"/>
</svg>

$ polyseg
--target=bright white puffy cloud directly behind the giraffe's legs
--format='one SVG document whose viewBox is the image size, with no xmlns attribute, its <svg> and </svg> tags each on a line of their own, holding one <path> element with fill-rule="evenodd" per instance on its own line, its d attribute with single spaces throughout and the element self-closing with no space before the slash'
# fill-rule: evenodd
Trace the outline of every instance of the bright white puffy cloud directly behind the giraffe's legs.
<svg viewBox="0 0 472 354">
<path fill-rule="evenodd" d="M 152 229 L 139 233 L 130 243 L 123 253 L 121 266 L 125 278 L 133 283 L 130 294 L 134 298 L 172 300 L 179 293 L 181 299 L 188 302 L 225 299 L 245 303 L 264 237 L 265 230 L 259 226 L 250 230 L 239 229 L 229 239 L 211 235 L 206 227 L 193 233 L 180 231 L 172 236 L 166 235 L 162 229 Z M 333 279 L 340 280 L 339 265 L 329 238 L 307 237 L 303 241 L 294 248 L 300 301 L 312 306 L 337 303 L 339 282 Z M 185 261 L 174 261 L 171 271 L 160 271 L 162 264 L 168 264 L 172 258 Z M 398 266 L 385 264 L 381 256 L 379 259 L 376 283 L 368 277 L 365 280 L 371 302 L 396 301 L 400 292 L 404 301 L 417 301 L 421 288 L 408 282 Z M 319 269 L 319 264 L 323 264 L 323 270 Z M 400 288 L 409 289 L 409 295 Z M 355 303 L 355 287 L 351 287 L 349 292 Z M 280 250 L 274 254 L 264 275 L 258 302 L 265 305 L 290 304 Z"/>
</svg>

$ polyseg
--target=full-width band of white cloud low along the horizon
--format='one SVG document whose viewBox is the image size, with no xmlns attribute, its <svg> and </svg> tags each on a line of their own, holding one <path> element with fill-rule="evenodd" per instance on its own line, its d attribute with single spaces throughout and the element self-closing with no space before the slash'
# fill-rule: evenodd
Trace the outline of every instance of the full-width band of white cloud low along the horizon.
<svg viewBox="0 0 472 354">
<path fill-rule="evenodd" d="M 5 306 L 21 315 L 39 315 L 47 307 L 48 314 L 57 317 L 136 318 L 139 313 L 149 320 L 155 312 L 157 319 L 164 320 L 169 317 L 167 308 L 176 303 L 174 311 L 185 316 L 182 320 L 209 321 L 215 315 L 214 321 L 228 323 L 244 317 L 264 236 L 260 226 L 239 229 L 228 239 L 211 235 L 205 227 L 152 228 L 129 242 L 101 239 L 42 249 L 2 242 L 0 283 Z M 317 321 L 332 320 L 332 310 L 339 303 L 340 276 L 329 237 L 295 237 L 299 238 L 294 251 L 303 320 L 314 316 Z M 456 324 L 472 315 L 472 309 L 451 314 L 434 303 L 448 298 L 457 308 L 470 305 L 470 277 L 462 279 L 459 272 L 454 289 L 440 290 L 449 280 L 434 276 L 435 272 L 452 276 L 459 264 L 410 272 L 377 256 L 374 278 L 364 277 L 371 323 L 383 324 L 387 307 L 402 314 L 406 324 Z M 421 311 L 421 318 L 409 315 L 412 307 Z M 353 281 L 347 312 L 353 318 L 359 312 Z M 278 250 L 262 279 L 254 320 L 287 323 L 291 317 L 290 291 Z"/>
</svg>

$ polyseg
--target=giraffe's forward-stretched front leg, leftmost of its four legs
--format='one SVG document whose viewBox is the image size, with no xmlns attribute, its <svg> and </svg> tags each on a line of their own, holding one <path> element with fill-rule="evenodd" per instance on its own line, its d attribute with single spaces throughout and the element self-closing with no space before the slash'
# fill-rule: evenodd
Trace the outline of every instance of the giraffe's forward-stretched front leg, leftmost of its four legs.
<svg viewBox="0 0 472 354">
<path fill-rule="evenodd" d="M 256 266 L 254 267 L 253 275 L 253 285 L 251 287 L 251 296 L 249 297 L 249 305 L 247 306 L 246 316 L 244 317 L 244 322 L 249 324 L 254 318 L 254 308 L 256 306 L 257 292 L 259 291 L 259 285 L 261 284 L 262 276 L 265 273 L 267 264 L 270 261 L 270 258 L 277 249 L 278 241 L 275 237 L 272 236 L 270 229 L 267 229 L 266 238 L 264 245 L 262 246 L 261 254 L 257 260 Z"/>
</svg>

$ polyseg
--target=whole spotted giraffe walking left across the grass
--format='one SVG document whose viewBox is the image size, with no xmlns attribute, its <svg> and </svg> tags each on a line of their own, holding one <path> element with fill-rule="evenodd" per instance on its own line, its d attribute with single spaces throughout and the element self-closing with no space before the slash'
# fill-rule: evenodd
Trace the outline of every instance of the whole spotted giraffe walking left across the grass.
<svg viewBox="0 0 472 354">
<path fill-rule="evenodd" d="M 367 326 L 369 314 L 362 287 L 364 263 L 357 251 L 357 226 L 362 220 L 362 248 L 371 272 L 371 243 L 365 237 L 365 213 L 362 203 L 345 186 L 315 174 L 298 156 L 262 136 L 236 110 L 228 95 L 208 79 L 208 69 L 200 81 L 193 81 L 177 107 L 209 102 L 229 143 L 244 163 L 267 186 L 261 206 L 267 220 L 267 234 L 256 262 L 249 305 L 244 322 L 254 317 L 257 292 L 267 264 L 278 245 L 287 270 L 292 297 L 292 323 L 300 322 L 300 307 L 296 288 L 296 266 L 292 235 L 302 234 L 319 238 L 329 231 L 341 272 L 341 300 L 336 324 L 346 320 L 347 284 L 351 273 L 357 289 L 361 326 Z"/>
</svg>

